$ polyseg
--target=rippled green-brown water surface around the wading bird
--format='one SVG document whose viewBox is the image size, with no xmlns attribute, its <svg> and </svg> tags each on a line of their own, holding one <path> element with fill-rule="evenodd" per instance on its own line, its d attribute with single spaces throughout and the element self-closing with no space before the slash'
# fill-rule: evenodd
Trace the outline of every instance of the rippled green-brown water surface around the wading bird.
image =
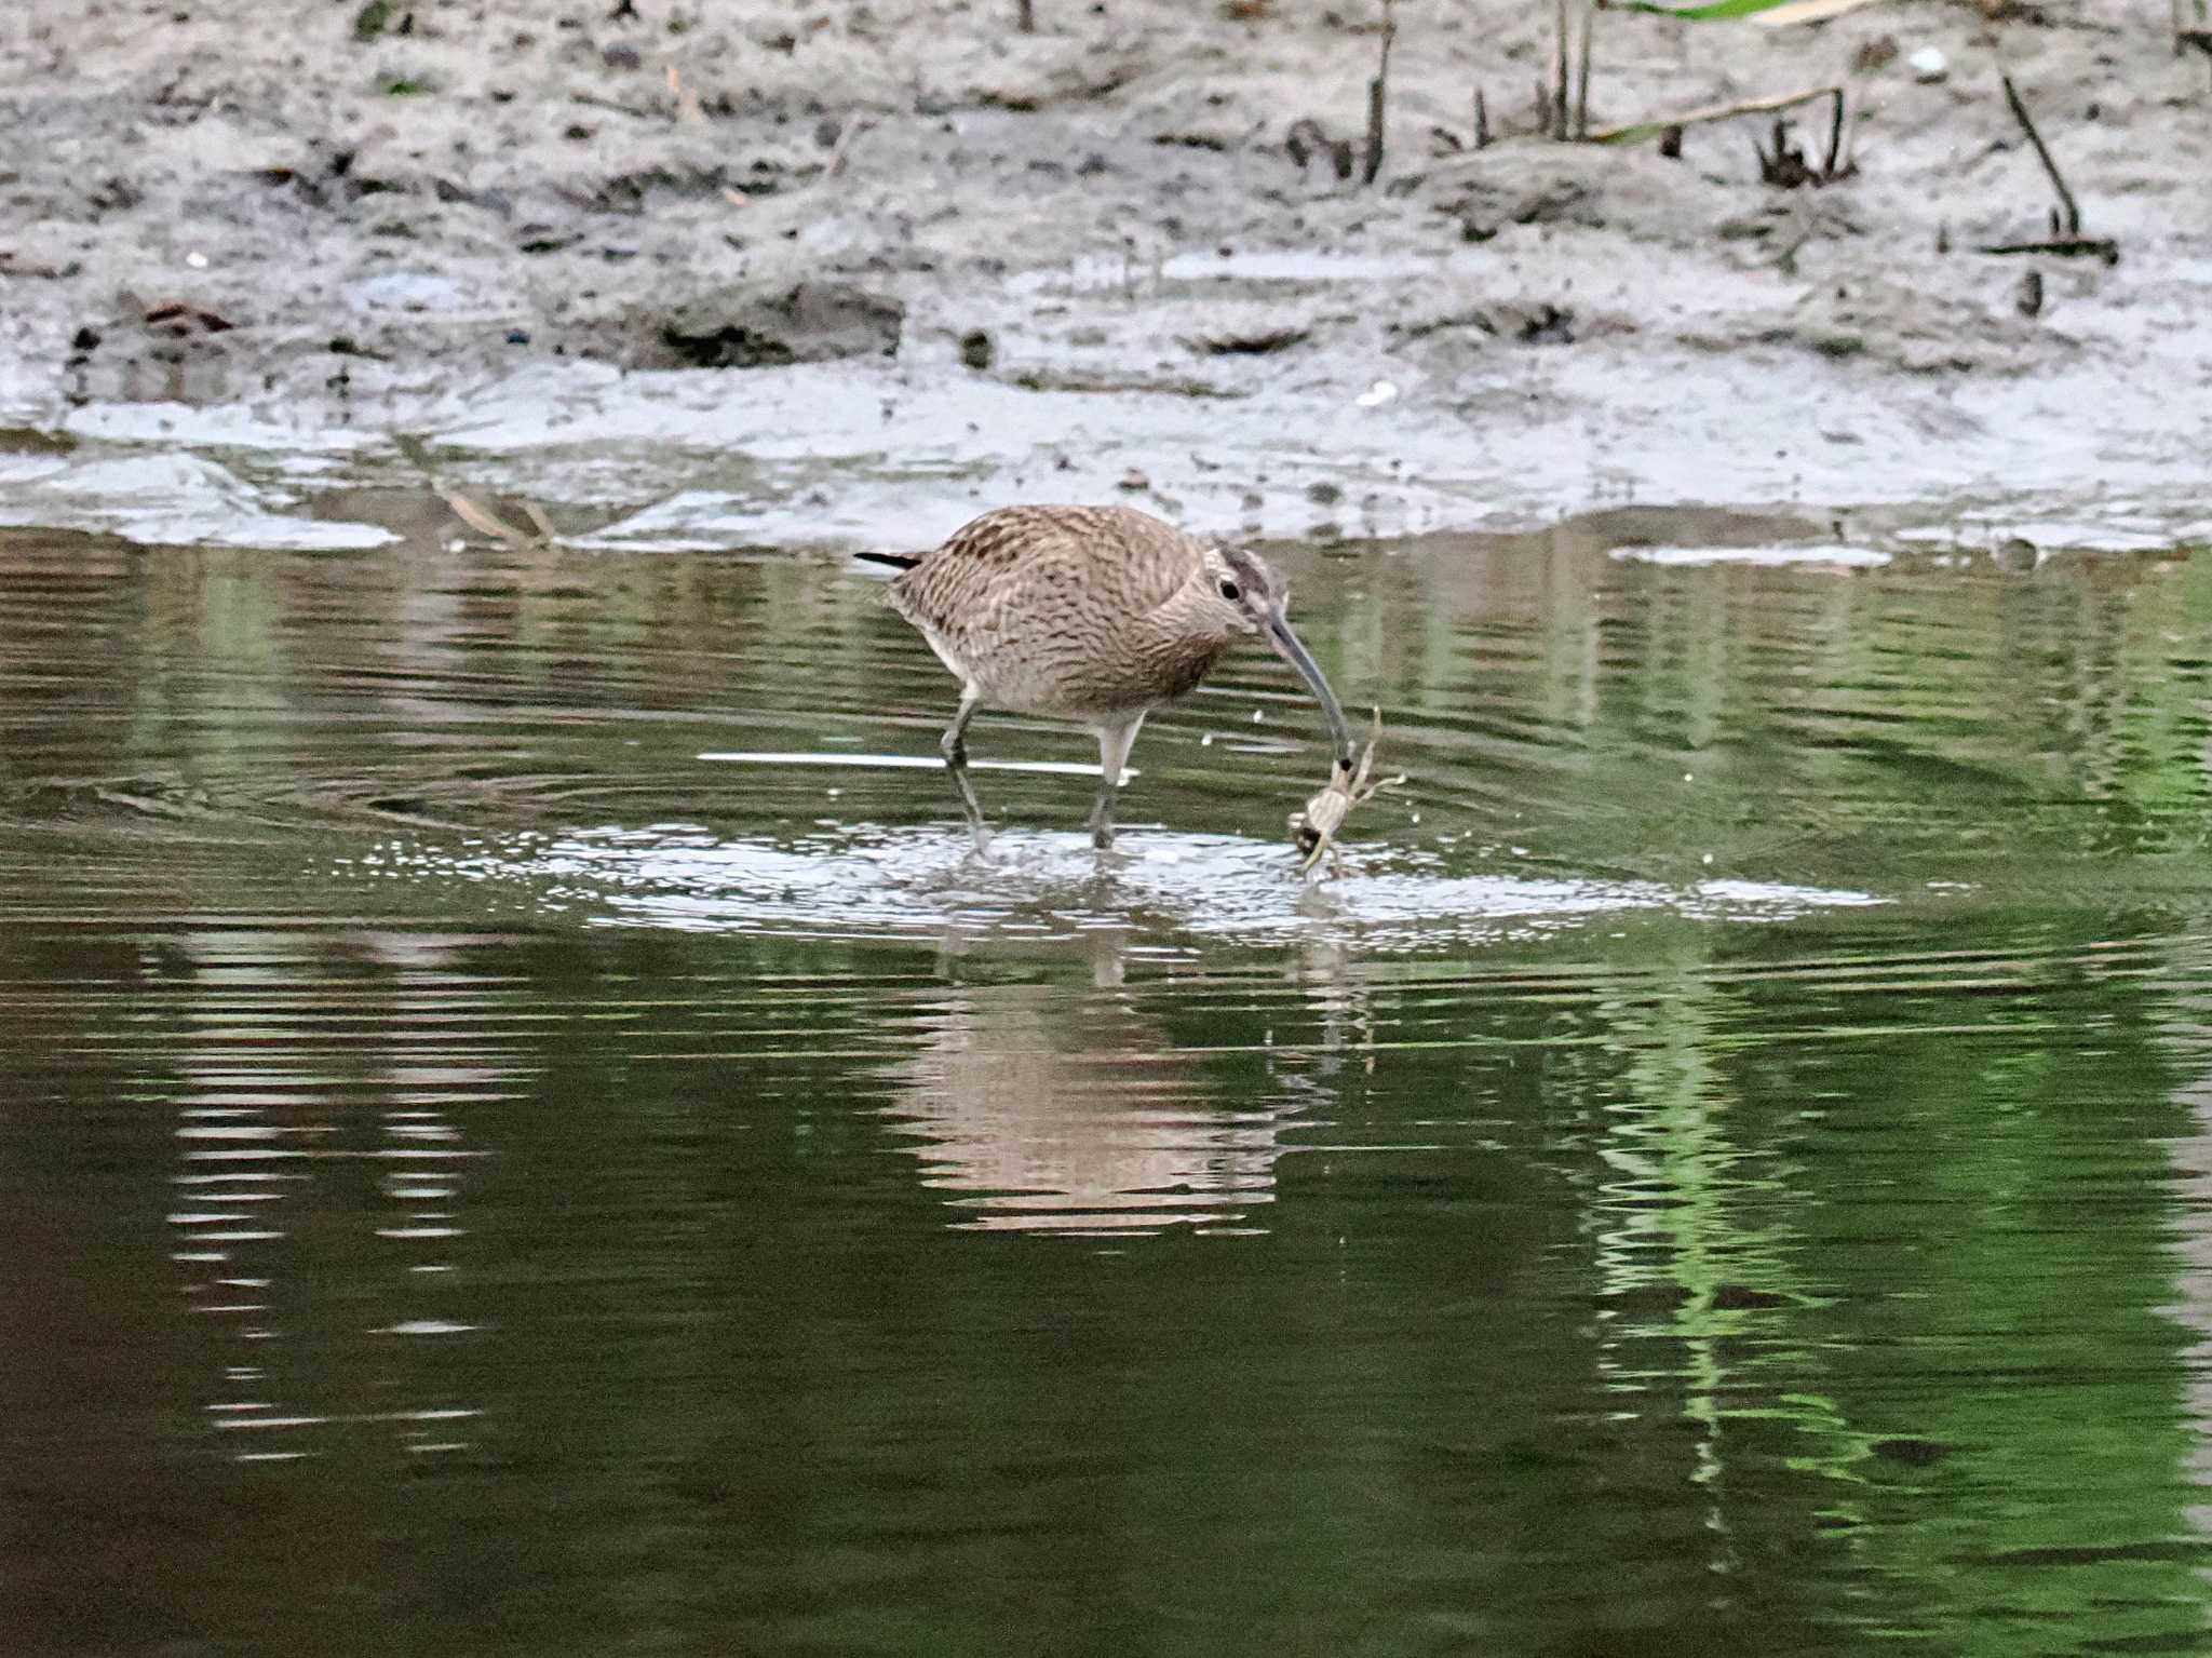
<svg viewBox="0 0 2212 1658">
<path fill-rule="evenodd" d="M 9 1651 L 2212 1647 L 2205 555 L 1285 548 L 1307 886 L 1263 652 L 975 862 L 847 562 L 394 524 L 0 531 Z"/>
</svg>

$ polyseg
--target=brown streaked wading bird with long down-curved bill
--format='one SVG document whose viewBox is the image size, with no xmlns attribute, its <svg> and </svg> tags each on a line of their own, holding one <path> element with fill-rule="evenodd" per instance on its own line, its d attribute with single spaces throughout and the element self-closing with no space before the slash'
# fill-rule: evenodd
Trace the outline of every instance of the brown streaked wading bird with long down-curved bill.
<svg viewBox="0 0 2212 1658">
<path fill-rule="evenodd" d="M 945 765 L 975 847 L 989 842 L 967 774 L 978 707 L 1088 725 L 1099 741 L 1091 840 L 1113 844 L 1113 796 L 1144 716 L 1192 690 L 1237 639 L 1265 634 L 1321 701 L 1336 763 L 1352 730 L 1290 630 L 1290 588 L 1254 553 L 1210 546 L 1130 506 L 1000 506 L 933 553 L 863 553 L 900 566 L 887 604 L 960 679 Z"/>
</svg>

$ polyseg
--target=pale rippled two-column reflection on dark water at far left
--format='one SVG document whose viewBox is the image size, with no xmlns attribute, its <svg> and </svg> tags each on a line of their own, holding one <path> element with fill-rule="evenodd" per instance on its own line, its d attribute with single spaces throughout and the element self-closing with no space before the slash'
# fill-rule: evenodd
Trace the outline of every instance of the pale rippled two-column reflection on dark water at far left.
<svg viewBox="0 0 2212 1658">
<path fill-rule="evenodd" d="M 449 1402 L 436 1360 L 363 1364 L 361 1340 L 476 1329 L 442 1307 L 467 1167 L 482 1156 L 458 1108 L 518 1085 L 495 1004 L 458 946 L 425 935 L 210 928 L 181 951 L 168 1225 L 186 1311 L 215 1331 L 212 1428 L 241 1446 L 239 1461 L 321 1455 L 327 1430 L 361 1424 L 407 1450 L 467 1448 L 453 1424 L 478 1410 Z M 352 1211 L 361 1231 L 345 1238 L 330 1216 Z M 367 1291 L 345 1253 L 363 1238 L 383 1267 Z M 405 1388 L 431 1402 L 367 1408 Z M 341 1408 L 347 1393 L 361 1408 Z"/>
</svg>

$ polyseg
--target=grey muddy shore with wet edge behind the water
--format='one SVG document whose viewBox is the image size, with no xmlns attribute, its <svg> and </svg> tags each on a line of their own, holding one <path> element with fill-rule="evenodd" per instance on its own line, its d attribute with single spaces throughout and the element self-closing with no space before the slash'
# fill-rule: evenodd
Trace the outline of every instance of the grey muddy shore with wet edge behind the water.
<svg viewBox="0 0 2212 1658">
<path fill-rule="evenodd" d="M 2212 95 L 2117 0 L 1599 15 L 1597 122 L 1849 77 L 1858 172 L 1805 188 L 1750 119 L 1679 159 L 1535 137 L 1548 33 L 1500 0 L 1398 7 L 1371 188 L 1285 146 L 1358 135 L 1363 4 L 35 11 L 0 20 L 0 522 L 296 539 L 301 500 L 416 482 L 409 433 L 630 546 L 1051 497 L 2203 524 Z M 2119 263 L 1980 252 L 2051 203 L 2000 69 Z"/>
</svg>

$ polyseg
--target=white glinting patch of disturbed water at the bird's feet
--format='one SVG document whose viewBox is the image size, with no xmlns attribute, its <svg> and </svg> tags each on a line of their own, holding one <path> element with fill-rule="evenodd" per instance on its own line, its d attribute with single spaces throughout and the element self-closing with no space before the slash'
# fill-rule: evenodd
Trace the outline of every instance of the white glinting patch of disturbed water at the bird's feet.
<svg viewBox="0 0 2212 1658">
<path fill-rule="evenodd" d="M 1354 847 L 1343 875 L 1303 882 L 1276 842 L 1144 831 L 1108 856 L 1086 836 L 1004 831 L 978 858 L 962 831 L 825 825 L 792 840 L 684 822 L 524 831 L 491 849 L 387 847 L 392 873 L 515 882 L 606 926 L 803 937 L 1073 940 L 1126 926 L 1188 946 L 1345 942 L 1425 951 L 1540 940 L 1597 917 L 1674 913 L 1774 922 L 1878 904 L 1869 893 L 1747 880 L 1478 875 L 1433 851 Z"/>
</svg>

